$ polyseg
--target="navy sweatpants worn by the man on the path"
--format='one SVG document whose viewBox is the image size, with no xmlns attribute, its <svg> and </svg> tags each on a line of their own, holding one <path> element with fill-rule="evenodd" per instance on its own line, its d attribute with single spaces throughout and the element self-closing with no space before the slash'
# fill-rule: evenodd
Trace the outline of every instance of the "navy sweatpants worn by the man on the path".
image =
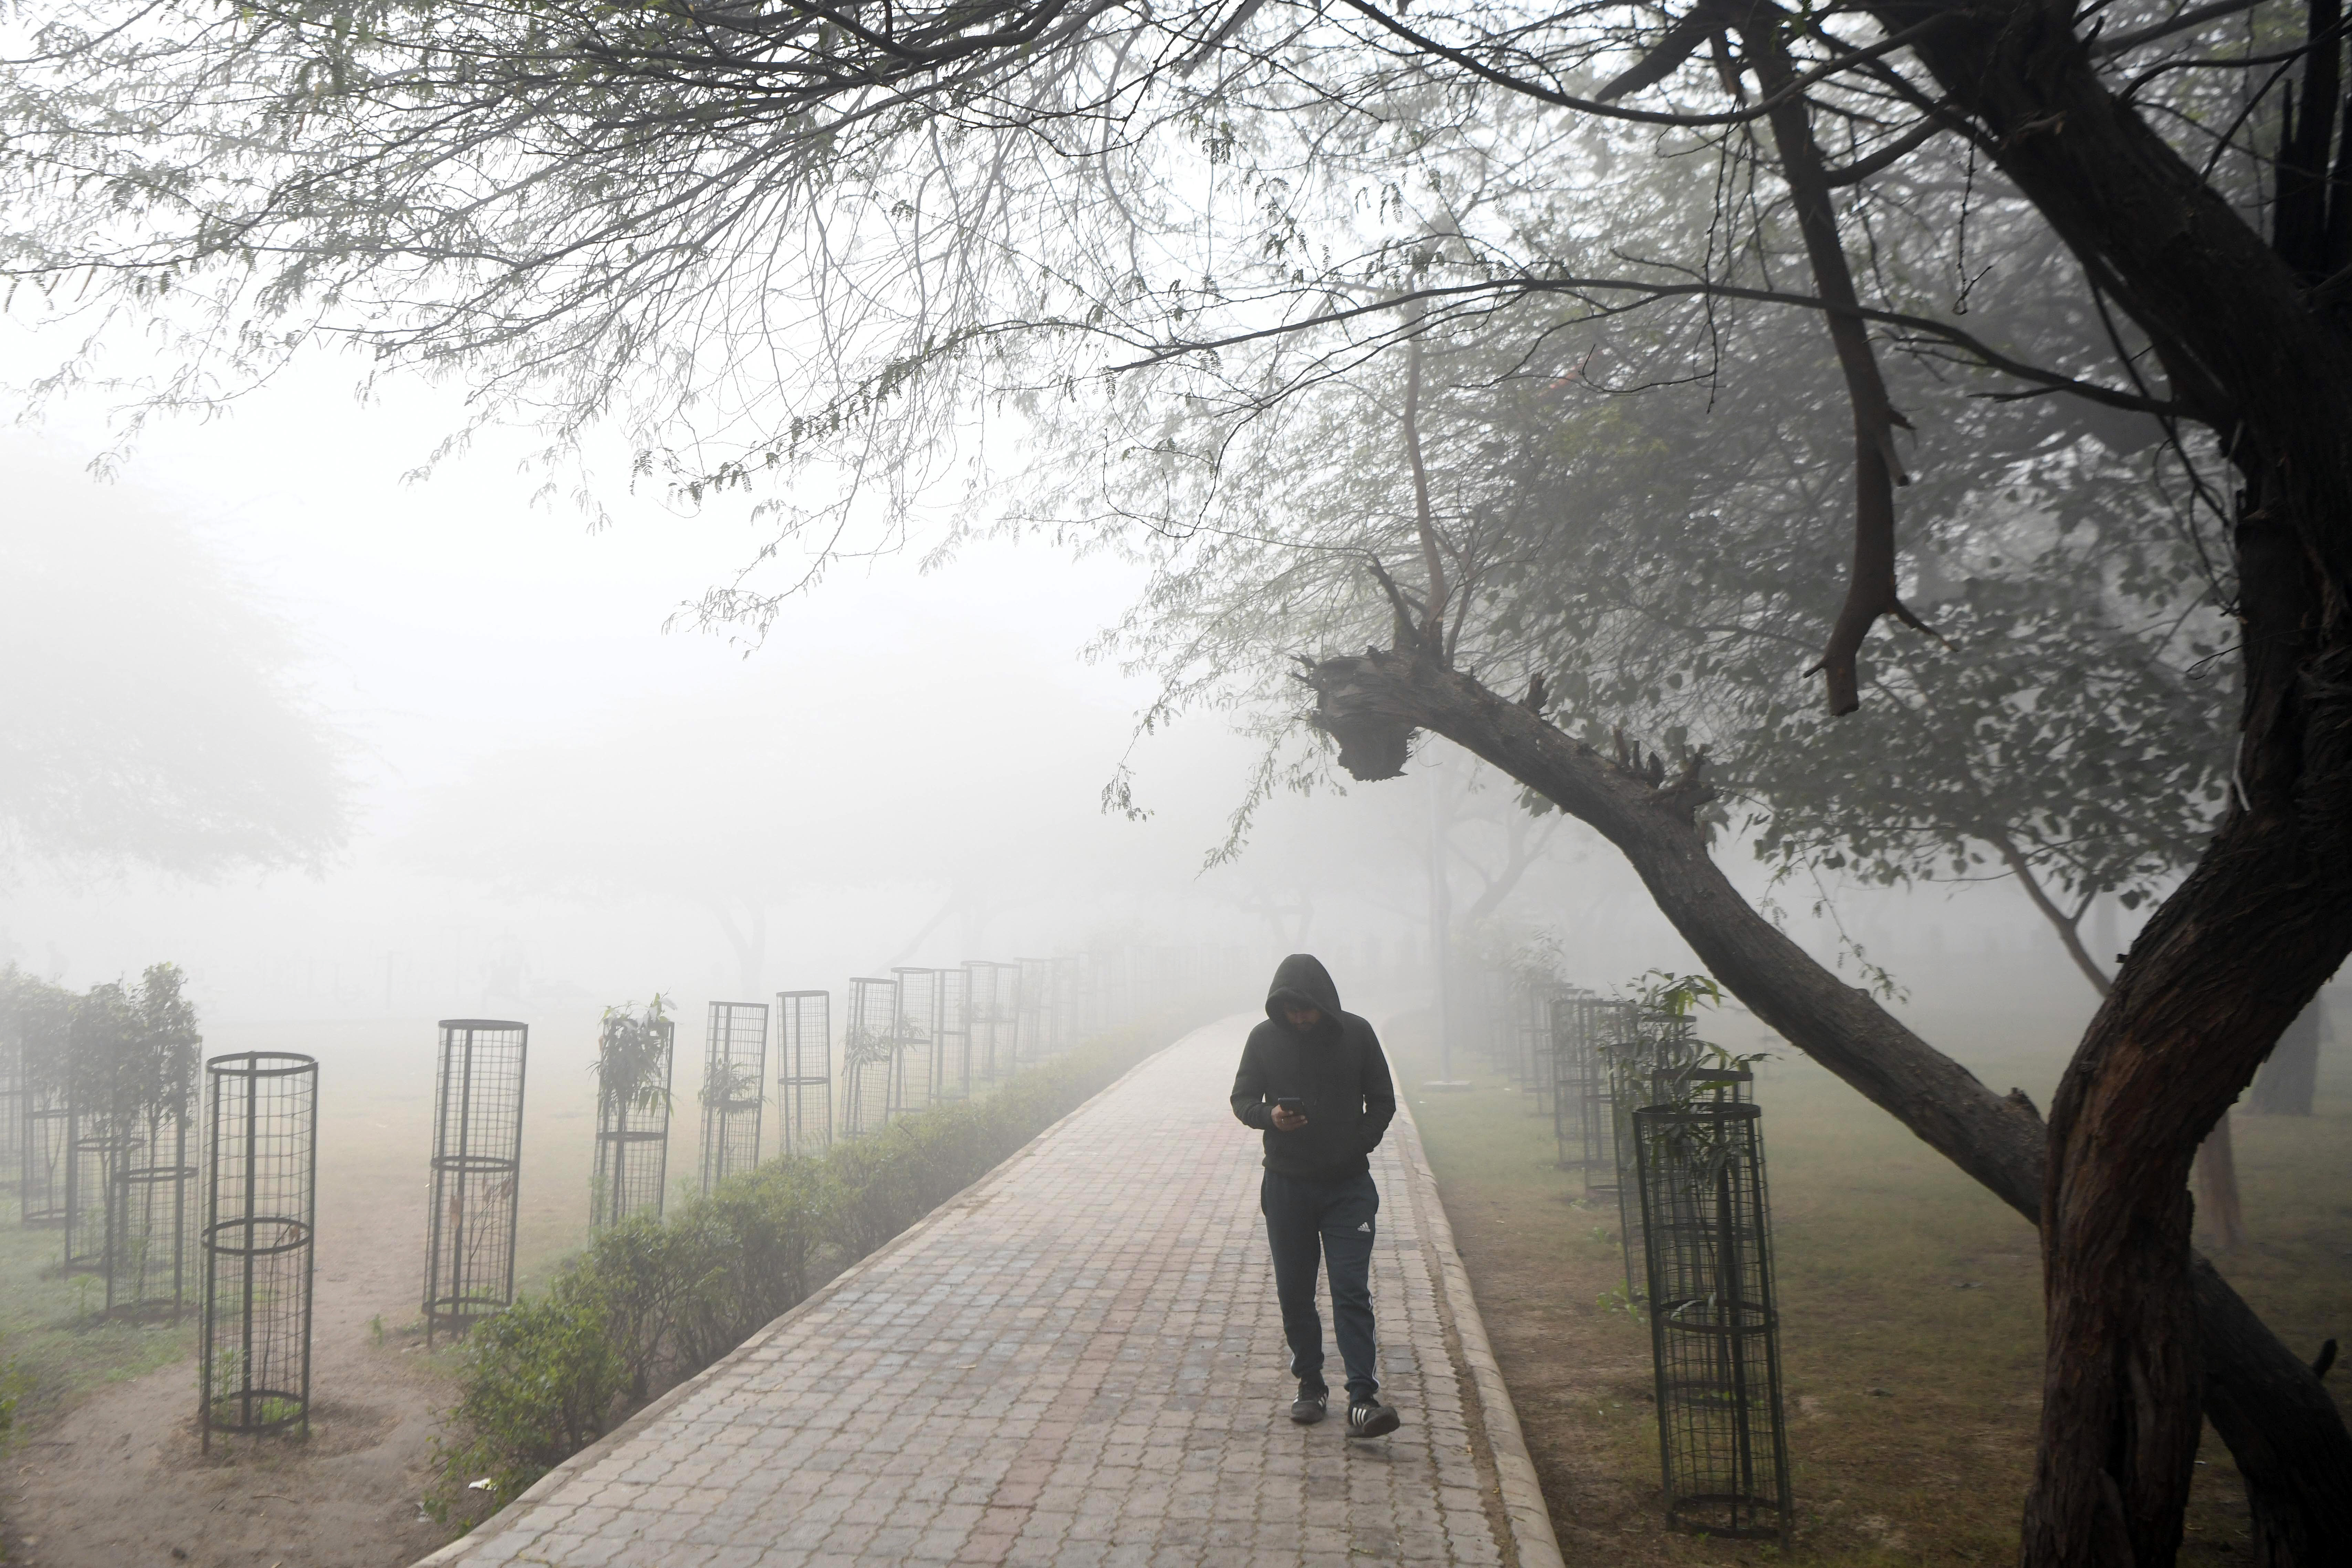
<svg viewBox="0 0 2352 1568">
<path fill-rule="evenodd" d="M 1381 1190 L 1371 1173 L 1338 1180 L 1303 1180 L 1265 1173 L 1258 1185 L 1265 1244 L 1275 1253 L 1275 1295 L 1282 1300 L 1282 1338 L 1291 1345 L 1291 1373 L 1305 1387 L 1324 1387 L 1322 1312 L 1315 1309 L 1315 1274 L 1331 1274 L 1331 1316 L 1338 1359 L 1348 1366 L 1348 1399 L 1371 1403 L 1381 1380 L 1371 1371 L 1371 1241 L 1381 1213 Z"/>
</svg>

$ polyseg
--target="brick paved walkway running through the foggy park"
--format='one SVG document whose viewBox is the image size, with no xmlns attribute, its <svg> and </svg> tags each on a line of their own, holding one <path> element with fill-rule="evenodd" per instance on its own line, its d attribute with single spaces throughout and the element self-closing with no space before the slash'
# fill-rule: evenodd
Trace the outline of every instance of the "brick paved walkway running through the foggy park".
<svg viewBox="0 0 2352 1568">
<path fill-rule="evenodd" d="M 1557 1568 L 1409 1117 L 1374 1159 L 1404 1429 L 1287 1420 L 1256 1133 L 1225 1110 L 1247 1023 L 1155 1056 L 428 1563 Z"/>
</svg>

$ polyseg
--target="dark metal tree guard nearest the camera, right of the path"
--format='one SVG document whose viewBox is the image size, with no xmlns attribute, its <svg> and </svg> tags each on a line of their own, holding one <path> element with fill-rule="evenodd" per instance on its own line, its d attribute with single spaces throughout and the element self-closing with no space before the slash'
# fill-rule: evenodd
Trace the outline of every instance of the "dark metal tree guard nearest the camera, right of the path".
<svg viewBox="0 0 2352 1568">
<path fill-rule="evenodd" d="M 1644 1105 L 1632 1124 L 1668 1521 L 1788 1544 L 1762 1112 Z"/>
</svg>

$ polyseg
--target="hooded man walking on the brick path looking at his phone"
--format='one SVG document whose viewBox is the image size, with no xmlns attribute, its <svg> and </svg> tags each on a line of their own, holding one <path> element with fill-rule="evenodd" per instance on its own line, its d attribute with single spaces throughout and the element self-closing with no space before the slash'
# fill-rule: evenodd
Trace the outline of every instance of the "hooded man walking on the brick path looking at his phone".
<svg viewBox="0 0 2352 1568">
<path fill-rule="evenodd" d="M 1397 1413 L 1381 1403 L 1374 1375 L 1371 1241 L 1381 1190 L 1371 1154 L 1397 1114 L 1388 1058 L 1371 1025 L 1338 1009 L 1322 961 L 1294 952 L 1275 969 L 1265 1023 L 1242 1046 L 1232 1114 L 1265 1133 L 1258 1208 L 1275 1253 L 1282 1338 L 1291 1345 L 1298 1399 L 1291 1420 L 1324 1418 L 1322 1314 L 1315 1274 L 1331 1274 L 1331 1319 L 1348 1366 L 1348 1436 L 1383 1436 Z"/>
</svg>

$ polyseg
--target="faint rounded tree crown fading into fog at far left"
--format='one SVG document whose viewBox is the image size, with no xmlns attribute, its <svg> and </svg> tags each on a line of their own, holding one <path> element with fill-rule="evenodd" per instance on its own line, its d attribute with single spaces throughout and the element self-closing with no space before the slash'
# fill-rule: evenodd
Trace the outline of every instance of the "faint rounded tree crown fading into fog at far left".
<svg viewBox="0 0 2352 1568">
<path fill-rule="evenodd" d="M 0 508 L 0 877 L 318 867 L 346 748 L 282 621 L 141 501 L 19 463 Z"/>
</svg>

